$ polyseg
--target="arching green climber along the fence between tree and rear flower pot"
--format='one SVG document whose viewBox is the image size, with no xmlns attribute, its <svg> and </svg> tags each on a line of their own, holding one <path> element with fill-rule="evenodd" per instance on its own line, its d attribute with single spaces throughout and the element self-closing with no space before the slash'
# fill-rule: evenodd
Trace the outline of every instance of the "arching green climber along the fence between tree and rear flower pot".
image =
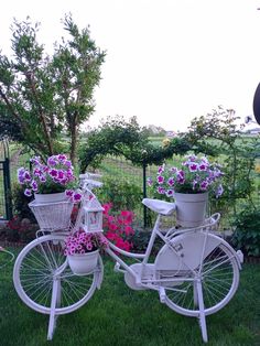
<svg viewBox="0 0 260 346">
<path fill-rule="evenodd" d="M 149 141 L 149 132 L 141 128 L 133 117 L 126 121 L 122 117 L 108 118 L 98 129 L 88 133 L 80 148 L 80 170 L 97 167 L 107 154 L 123 155 L 136 165 L 161 164 L 173 153 L 185 153 L 191 145 L 185 139 L 175 138 L 169 145 L 155 148 Z"/>
</svg>

